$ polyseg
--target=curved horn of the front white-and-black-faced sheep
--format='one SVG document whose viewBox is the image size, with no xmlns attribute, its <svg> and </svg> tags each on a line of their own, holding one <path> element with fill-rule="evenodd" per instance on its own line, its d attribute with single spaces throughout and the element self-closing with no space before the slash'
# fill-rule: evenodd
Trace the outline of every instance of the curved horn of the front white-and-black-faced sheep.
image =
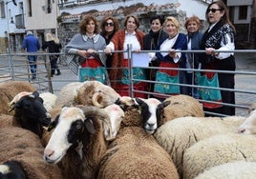
<svg viewBox="0 0 256 179">
<path fill-rule="evenodd" d="M 96 107 L 81 107 L 78 106 L 79 109 L 82 109 L 84 112 L 85 116 L 91 116 L 91 117 L 95 117 L 98 116 L 97 119 L 101 120 L 103 122 L 103 129 L 104 129 L 104 136 L 106 141 L 111 141 L 113 140 L 115 137 L 113 137 L 112 135 L 112 126 L 111 126 L 111 121 L 110 118 L 108 116 L 108 114 L 104 111 L 104 109 L 98 109 Z"/>
</svg>

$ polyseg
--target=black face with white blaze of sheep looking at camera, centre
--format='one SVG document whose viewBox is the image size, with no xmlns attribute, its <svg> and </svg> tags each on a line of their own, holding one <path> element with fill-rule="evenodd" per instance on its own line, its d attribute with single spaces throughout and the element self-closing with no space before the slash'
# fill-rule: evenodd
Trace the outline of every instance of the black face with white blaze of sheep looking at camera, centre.
<svg viewBox="0 0 256 179">
<path fill-rule="evenodd" d="M 158 122 L 162 117 L 162 112 L 165 107 L 167 107 L 170 102 L 162 102 L 156 98 L 148 98 L 148 99 L 140 99 L 136 98 L 140 109 L 141 116 L 143 119 L 143 127 L 144 129 L 153 134 L 156 129 L 158 129 Z"/>
</svg>

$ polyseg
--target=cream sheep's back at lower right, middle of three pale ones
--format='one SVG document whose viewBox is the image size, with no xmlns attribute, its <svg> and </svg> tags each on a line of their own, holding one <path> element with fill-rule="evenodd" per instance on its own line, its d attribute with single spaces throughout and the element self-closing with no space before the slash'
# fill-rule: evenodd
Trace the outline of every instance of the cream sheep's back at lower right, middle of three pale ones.
<svg viewBox="0 0 256 179">
<path fill-rule="evenodd" d="M 206 169 L 228 162 L 256 162 L 255 143 L 254 135 L 225 133 L 194 144 L 183 155 L 184 179 L 194 178 Z"/>
</svg>

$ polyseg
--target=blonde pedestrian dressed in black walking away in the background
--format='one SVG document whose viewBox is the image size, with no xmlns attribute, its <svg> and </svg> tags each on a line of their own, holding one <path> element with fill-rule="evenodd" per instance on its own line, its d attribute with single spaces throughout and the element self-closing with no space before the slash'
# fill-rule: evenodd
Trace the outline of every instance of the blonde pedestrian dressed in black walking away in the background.
<svg viewBox="0 0 256 179">
<path fill-rule="evenodd" d="M 42 45 L 43 50 L 47 50 L 49 53 L 57 53 L 59 52 L 59 44 L 56 44 L 53 39 L 53 34 L 52 33 L 47 33 L 46 34 L 46 40 Z M 60 70 L 58 69 L 57 66 L 57 59 L 58 55 L 57 54 L 50 54 L 50 64 L 51 64 L 51 76 L 53 77 L 53 74 L 55 70 L 57 71 L 56 75 L 60 75 Z"/>
</svg>

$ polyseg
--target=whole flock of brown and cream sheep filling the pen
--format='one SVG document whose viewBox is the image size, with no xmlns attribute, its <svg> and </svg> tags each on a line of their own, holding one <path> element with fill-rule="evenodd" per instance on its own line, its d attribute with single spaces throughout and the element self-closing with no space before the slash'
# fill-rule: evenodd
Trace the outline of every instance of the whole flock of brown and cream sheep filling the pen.
<svg viewBox="0 0 256 179">
<path fill-rule="evenodd" d="M 256 105 L 204 117 L 186 95 L 131 98 L 96 81 L 54 95 L 0 84 L 0 178 L 256 178 Z"/>
</svg>

